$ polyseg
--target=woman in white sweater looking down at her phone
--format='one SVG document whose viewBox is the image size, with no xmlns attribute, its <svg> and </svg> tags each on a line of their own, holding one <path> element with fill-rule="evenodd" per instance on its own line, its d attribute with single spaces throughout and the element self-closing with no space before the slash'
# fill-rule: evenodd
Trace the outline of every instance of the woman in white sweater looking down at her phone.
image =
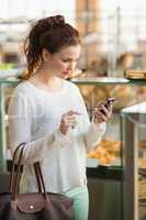
<svg viewBox="0 0 146 220">
<path fill-rule="evenodd" d="M 72 198 L 75 219 L 87 220 L 87 151 L 101 140 L 111 110 L 97 108 L 90 122 L 78 87 L 66 80 L 79 59 L 80 37 L 64 16 L 37 21 L 24 50 L 29 72 L 9 106 L 12 154 L 26 142 L 21 190 L 37 190 L 33 163 L 40 162 L 47 191 Z"/>
</svg>

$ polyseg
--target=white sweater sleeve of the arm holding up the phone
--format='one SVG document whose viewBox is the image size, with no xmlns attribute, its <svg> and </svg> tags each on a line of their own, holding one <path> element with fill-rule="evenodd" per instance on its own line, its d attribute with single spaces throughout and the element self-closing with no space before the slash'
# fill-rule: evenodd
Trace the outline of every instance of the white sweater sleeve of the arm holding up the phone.
<svg viewBox="0 0 146 220">
<path fill-rule="evenodd" d="M 81 125 L 82 129 L 80 129 L 79 135 L 83 138 L 86 148 L 88 151 L 91 147 L 97 146 L 97 144 L 101 141 L 101 138 L 105 132 L 106 124 L 105 122 L 99 124 L 94 123 L 93 121 L 90 122 L 83 98 L 79 91 L 79 88 L 78 87 L 76 88 L 78 92 L 78 99 L 80 102 L 79 106 L 82 113 L 82 125 Z"/>
</svg>

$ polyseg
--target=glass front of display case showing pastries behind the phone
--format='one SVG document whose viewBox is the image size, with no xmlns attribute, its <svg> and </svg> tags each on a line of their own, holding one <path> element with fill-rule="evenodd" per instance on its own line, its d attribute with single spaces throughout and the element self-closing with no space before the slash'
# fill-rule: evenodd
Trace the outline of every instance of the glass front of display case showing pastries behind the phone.
<svg viewBox="0 0 146 220">
<path fill-rule="evenodd" d="M 91 166 L 103 165 L 103 166 L 116 166 L 120 167 L 121 154 L 122 154 L 122 142 L 121 142 L 121 125 L 120 125 L 120 111 L 132 105 L 141 102 L 146 98 L 146 87 L 142 88 L 136 85 L 128 84 L 102 84 L 102 85 L 85 85 L 77 84 L 82 97 L 85 99 L 90 119 L 92 114 L 92 108 L 99 101 L 103 101 L 106 97 L 115 97 L 116 101 L 113 107 L 113 116 L 108 121 L 108 128 L 105 135 L 103 136 L 100 144 L 94 150 L 88 153 L 88 160 Z M 139 96 L 141 95 L 141 96 Z"/>
</svg>

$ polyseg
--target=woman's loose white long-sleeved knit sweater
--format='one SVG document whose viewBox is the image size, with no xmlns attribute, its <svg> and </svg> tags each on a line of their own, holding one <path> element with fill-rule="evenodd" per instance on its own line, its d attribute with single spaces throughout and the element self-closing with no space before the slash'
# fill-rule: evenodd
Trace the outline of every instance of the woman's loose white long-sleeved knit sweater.
<svg viewBox="0 0 146 220">
<path fill-rule="evenodd" d="M 66 135 L 59 132 L 61 116 L 75 110 L 77 127 Z M 21 191 L 36 191 L 33 163 L 40 162 L 46 190 L 65 193 L 87 183 L 87 151 L 97 145 L 105 123 L 94 124 L 76 85 L 63 80 L 59 92 L 47 92 L 30 81 L 19 84 L 9 106 L 9 141 L 11 152 L 26 142 Z"/>
</svg>

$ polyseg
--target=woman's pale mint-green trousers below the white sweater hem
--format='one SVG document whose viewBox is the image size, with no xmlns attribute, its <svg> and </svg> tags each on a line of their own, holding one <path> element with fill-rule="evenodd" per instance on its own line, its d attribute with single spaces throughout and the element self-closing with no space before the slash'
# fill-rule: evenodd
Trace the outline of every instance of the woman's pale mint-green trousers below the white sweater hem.
<svg viewBox="0 0 146 220">
<path fill-rule="evenodd" d="M 65 193 L 65 196 L 74 199 L 75 220 L 88 220 L 89 195 L 87 186 L 70 189 Z"/>
</svg>

